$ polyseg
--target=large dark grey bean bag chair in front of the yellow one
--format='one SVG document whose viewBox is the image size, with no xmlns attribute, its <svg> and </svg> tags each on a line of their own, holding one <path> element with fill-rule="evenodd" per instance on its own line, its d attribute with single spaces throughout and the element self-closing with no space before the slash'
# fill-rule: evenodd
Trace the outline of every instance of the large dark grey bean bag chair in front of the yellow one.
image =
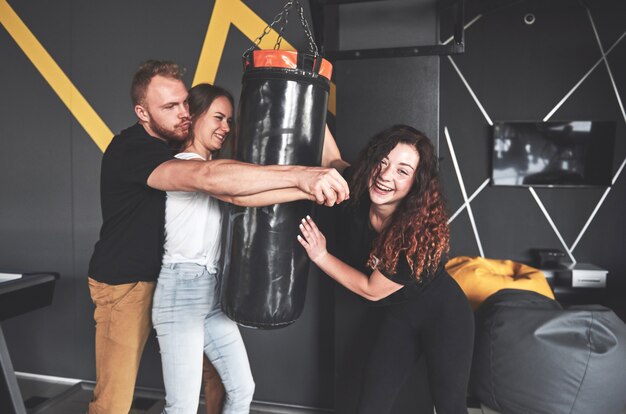
<svg viewBox="0 0 626 414">
<path fill-rule="evenodd" d="M 504 289 L 476 311 L 470 393 L 505 414 L 622 414 L 626 325 L 599 305 L 563 309 Z"/>
</svg>

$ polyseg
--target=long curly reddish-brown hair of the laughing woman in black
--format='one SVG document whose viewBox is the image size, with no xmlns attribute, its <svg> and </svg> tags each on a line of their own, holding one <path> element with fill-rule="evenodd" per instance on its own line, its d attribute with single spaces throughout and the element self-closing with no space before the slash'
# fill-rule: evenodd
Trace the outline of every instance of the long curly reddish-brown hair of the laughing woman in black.
<svg viewBox="0 0 626 414">
<path fill-rule="evenodd" d="M 450 243 L 437 157 L 430 139 L 407 125 L 394 125 L 376 134 L 361 151 L 350 198 L 358 202 L 368 193 L 370 182 L 380 175 L 381 161 L 399 143 L 414 147 L 419 154 L 415 181 L 376 238 L 368 266 L 393 274 L 400 254 L 404 253 L 415 278 L 419 279 L 423 272 L 437 269 Z"/>
</svg>

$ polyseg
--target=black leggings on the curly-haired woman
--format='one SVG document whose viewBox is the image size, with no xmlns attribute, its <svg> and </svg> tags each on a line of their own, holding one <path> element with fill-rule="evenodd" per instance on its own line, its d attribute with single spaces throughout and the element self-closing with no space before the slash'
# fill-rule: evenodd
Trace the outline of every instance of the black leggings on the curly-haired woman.
<svg viewBox="0 0 626 414">
<path fill-rule="evenodd" d="M 384 312 L 365 368 L 359 414 L 390 412 L 422 352 L 437 414 L 467 414 L 474 316 L 454 279 L 443 272 L 415 300 Z"/>
</svg>

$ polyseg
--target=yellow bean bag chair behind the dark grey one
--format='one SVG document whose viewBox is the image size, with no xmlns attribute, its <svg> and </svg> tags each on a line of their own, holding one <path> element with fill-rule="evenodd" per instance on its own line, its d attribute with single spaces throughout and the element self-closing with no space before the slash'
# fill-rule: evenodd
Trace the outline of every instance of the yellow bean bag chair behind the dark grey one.
<svg viewBox="0 0 626 414">
<path fill-rule="evenodd" d="M 512 260 L 458 256 L 448 261 L 446 270 L 461 286 L 474 310 L 501 289 L 530 290 L 554 299 L 541 270 Z"/>
</svg>

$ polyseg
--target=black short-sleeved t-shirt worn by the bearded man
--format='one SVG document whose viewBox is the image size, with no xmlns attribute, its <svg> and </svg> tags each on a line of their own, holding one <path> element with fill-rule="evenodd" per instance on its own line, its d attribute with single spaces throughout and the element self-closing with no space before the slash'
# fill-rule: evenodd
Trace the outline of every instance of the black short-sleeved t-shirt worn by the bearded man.
<svg viewBox="0 0 626 414">
<path fill-rule="evenodd" d="M 102 229 L 89 276 L 112 285 L 154 281 L 163 257 L 165 192 L 148 186 L 152 171 L 173 154 L 140 124 L 116 135 L 102 157 Z"/>
</svg>

